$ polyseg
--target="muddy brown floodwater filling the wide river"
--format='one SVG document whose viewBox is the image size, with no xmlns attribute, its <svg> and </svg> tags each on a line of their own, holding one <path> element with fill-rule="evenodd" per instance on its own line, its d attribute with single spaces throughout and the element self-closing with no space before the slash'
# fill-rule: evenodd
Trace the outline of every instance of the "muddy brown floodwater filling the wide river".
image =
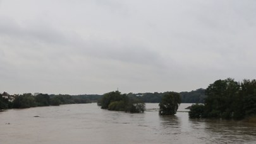
<svg viewBox="0 0 256 144">
<path fill-rule="evenodd" d="M 159 116 L 158 104 L 146 107 L 143 114 L 107 111 L 95 103 L 9 109 L 0 113 L 0 143 L 256 143 L 252 123 L 189 119 L 186 112 Z"/>
</svg>

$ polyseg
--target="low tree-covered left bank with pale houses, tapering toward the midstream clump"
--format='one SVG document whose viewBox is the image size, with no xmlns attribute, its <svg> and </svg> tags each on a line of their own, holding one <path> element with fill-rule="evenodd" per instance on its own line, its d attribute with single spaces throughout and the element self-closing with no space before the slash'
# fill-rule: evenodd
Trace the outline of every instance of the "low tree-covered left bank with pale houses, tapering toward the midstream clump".
<svg viewBox="0 0 256 144">
<path fill-rule="evenodd" d="M 60 104 L 82 104 L 95 102 L 101 95 L 76 95 L 70 96 L 67 94 L 37 94 L 31 93 L 20 95 L 9 95 L 7 92 L 0 94 L 0 109 L 11 108 L 32 108 L 37 106 L 59 106 Z"/>
</svg>

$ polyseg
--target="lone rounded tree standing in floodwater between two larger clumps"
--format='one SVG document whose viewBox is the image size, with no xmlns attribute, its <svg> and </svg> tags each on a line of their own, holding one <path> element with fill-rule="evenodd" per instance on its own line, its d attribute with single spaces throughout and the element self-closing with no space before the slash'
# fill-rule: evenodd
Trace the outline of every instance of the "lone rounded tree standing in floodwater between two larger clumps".
<svg viewBox="0 0 256 144">
<path fill-rule="evenodd" d="M 160 115 L 174 115 L 181 103 L 180 94 L 178 92 L 166 92 L 159 103 Z"/>
</svg>

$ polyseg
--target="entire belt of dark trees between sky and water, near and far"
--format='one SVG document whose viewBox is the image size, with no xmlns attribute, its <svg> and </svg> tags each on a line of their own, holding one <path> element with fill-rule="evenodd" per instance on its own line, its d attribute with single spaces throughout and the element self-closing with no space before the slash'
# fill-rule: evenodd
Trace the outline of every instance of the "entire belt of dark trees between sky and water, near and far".
<svg viewBox="0 0 256 144">
<path fill-rule="evenodd" d="M 202 94 L 203 92 L 205 94 Z M 37 96 L 33 96 L 30 93 L 25 93 L 10 96 L 7 92 L 3 92 L 3 94 L 0 94 L 0 109 L 58 106 L 59 104 L 97 101 L 97 104 L 102 109 L 143 113 L 145 111 L 145 101 L 150 98 L 161 98 L 159 102 L 159 114 L 173 115 L 182 102 L 182 97 L 188 96 L 193 97 L 192 99 L 199 99 L 197 100 L 199 102 L 202 101 L 202 104 L 192 105 L 188 113 L 190 118 L 244 119 L 250 116 L 256 116 L 256 80 L 236 82 L 231 78 L 216 80 L 207 89 L 197 89 L 196 91 L 180 93 L 121 94 L 121 92 L 115 91 L 103 95 L 70 96 L 62 94 L 38 94 Z M 15 99 L 10 99 L 10 97 L 15 97 Z"/>
</svg>

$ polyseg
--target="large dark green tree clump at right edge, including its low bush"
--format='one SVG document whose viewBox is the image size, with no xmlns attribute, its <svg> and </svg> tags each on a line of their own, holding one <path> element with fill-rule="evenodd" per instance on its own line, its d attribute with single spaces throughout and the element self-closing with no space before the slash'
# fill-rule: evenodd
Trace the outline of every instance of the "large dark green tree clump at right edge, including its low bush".
<svg viewBox="0 0 256 144">
<path fill-rule="evenodd" d="M 204 104 L 194 104 L 190 118 L 244 119 L 256 116 L 256 80 L 216 80 L 205 90 Z"/>
</svg>

